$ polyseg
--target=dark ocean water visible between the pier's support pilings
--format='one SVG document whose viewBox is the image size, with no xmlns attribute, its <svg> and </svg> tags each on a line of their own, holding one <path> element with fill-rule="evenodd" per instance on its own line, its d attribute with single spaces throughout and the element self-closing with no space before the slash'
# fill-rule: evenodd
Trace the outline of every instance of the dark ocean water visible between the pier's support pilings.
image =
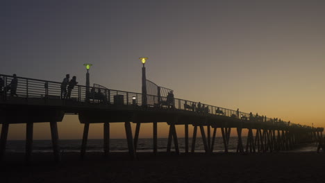
<svg viewBox="0 0 325 183">
<path fill-rule="evenodd" d="M 243 145 L 247 137 L 243 137 Z M 224 146 L 222 143 L 222 137 L 217 137 L 214 145 L 214 152 L 224 152 Z M 229 140 L 228 151 L 235 152 L 237 149 L 237 137 L 231 137 Z M 60 140 L 60 150 L 63 152 L 80 152 L 81 139 L 76 140 Z M 192 139 L 189 139 L 189 146 L 191 148 Z M 172 149 L 174 145 L 172 145 Z M 185 152 L 185 139 L 178 138 L 178 146 L 181 152 Z M 126 139 L 110 139 L 110 152 L 127 152 Z M 167 138 L 158 139 L 158 152 L 165 152 L 167 148 Z M 315 144 L 305 144 L 290 152 L 316 152 L 317 146 Z M 24 153 L 25 141 L 8 141 L 6 146 L 6 152 Z M 103 152 L 103 139 L 88 139 L 87 144 L 88 152 Z M 153 139 L 139 139 L 138 140 L 138 152 L 152 152 L 153 151 Z M 33 152 L 47 153 L 52 152 L 51 140 L 34 140 Z M 197 138 L 195 145 L 195 152 L 204 152 L 204 146 L 201 138 Z"/>
</svg>

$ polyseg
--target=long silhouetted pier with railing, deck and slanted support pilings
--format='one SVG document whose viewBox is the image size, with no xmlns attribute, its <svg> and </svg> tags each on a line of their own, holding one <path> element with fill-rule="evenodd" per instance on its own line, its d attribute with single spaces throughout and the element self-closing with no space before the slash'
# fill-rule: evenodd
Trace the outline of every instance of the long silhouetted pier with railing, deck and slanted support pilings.
<svg viewBox="0 0 325 183">
<path fill-rule="evenodd" d="M 4 86 L 12 80 L 12 76 L 0 74 L 0 77 Z M 176 125 L 182 126 L 185 130 L 185 153 L 195 153 L 198 133 L 203 139 L 205 152 L 213 153 L 217 128 L 222 132 L 224 153 L 228 153 L 232 130 L 238 134 L 237 153 L 271 153 L 291 150 L 299 143 L 317 141 L 319 149 L 324 146 L 321 140 L 324 128 L 299 125 L 181 98 L 172 98 L 172 102 L 169 103 L 167 96 L 163 94 L 165 91 L 163 87 L 158 87 L 157 95 L 151 95 L 147 94 L 147 89 L 144 92 L 143 87 L 140 94 L 108 89 L 101 85 L 90 87 L 88 82 L 87 86 L 76 85 L 70 98 L 61 98 L 60 82 L 22 77 L 17 79 L 19 81 L 17 96 L 10 96 L 6 87 L 3 87 L 0 96 L 1 160 L 5 155 L 10 124 L 26 123 L 26 162 L 31 162 L 33 124 L 49 123 L 54 160 L 59 162 L 57 123 L 63 120 L 65 114 L 78 115 L 80 123 L 84 124 L 81 159 L 86 155 L 88 131 L 92 123 L 103 124 L 103 150 L 106 156 L 110 153 L 110 123 L 124 123 L 128 152 L 132 159 L 137 155 L 138 137 L 143 123 L 153 124 L 154 154 L 157 154 L 158 149 L 157 123 L 169 125 L 167 153 L 171 153 L 173 144 L 175 153 L 180 153 Z M 145 80 L 145 77 L 142 78 L 143 82 L 150 85 L 150 81 Z M 131 123 L 136 124 L 135 132 L 131 130 Z M 192 142 L 189 141 L 191 135 L 188 131 L 189 125 L 194 126 Z M 242 140 L 244 129 L 248 130 L 246 143 Z M 192 146 L 189 146 L 190 144 Z"/>
</svg>

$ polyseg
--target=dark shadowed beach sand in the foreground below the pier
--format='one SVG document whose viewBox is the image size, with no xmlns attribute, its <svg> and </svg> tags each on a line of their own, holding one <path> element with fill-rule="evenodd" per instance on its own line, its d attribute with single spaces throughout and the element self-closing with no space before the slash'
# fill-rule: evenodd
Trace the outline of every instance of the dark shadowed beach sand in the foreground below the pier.
<svg viewBox="0 0 325 183">
<path fill-rule="evenodd" d="M 87 153 L 63 154 L 53 163 L 51 153 L 8 153 L 1 162 L 0 182 L 325 182 L 325 153 L 264 153 L 204 155 Z"/>
</svg>

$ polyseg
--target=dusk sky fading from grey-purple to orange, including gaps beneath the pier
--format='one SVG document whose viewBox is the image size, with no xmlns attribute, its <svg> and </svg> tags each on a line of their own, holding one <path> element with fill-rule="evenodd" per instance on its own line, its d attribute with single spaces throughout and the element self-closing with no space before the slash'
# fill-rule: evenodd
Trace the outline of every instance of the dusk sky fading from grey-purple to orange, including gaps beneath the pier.
<svg viewBox="0 0 325 183">
<path fill-rule="evenodd" d="M 325 1 L 5 0 L 0 73 L 59 82 L 70 73 L 83 84 L 90 62 L 91 84 L 140 92 L 147 56 L 147 79 L 176 98 L 325 127 L 324 18 Z M 24 139 L 24 127 L 10 125 L 8 139 Z M 82 137 L 77 116 L 58 128 L 60 139 Z M 102 131 L 90 125 L 90 138 Z M 35 125 L 35 139 L 49 137 L 48 123 Z"/>
</svg>

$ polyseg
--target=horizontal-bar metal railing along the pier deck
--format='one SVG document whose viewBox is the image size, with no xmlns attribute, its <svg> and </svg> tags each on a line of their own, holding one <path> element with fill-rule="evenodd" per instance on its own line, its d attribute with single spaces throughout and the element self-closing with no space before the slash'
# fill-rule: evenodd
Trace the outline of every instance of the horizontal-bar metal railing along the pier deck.
<svg viewBox="0 0 325 183">
<path fill-rule="evenodd" d="M 11 96 L 12 86 L 10 82 L 13 77 L 0 74 L 3 80 L 0 86 L 1 98 L 3 101 L 10 100 L 16 96 Z M 187 101 L 181 98 L 167 98 L 162 96 L 147 95 L 147 105 L 142 105 L 143 95 L 135 92 L 124 92 L 115 89 L 103 89 L 101 87 L 89 87 L 76 85 L 72 89 L 71 96 L 61 98 L 61 83 L 48 80 L 38 80 L 31 78 L 17 77 L 17 97 L 18 98 L 42 98 L 44 100 L 65 100 L 82 103 L 83 105 L 128 105 L 137 110 L 181 110 L 195 112 L 201 115 L 218 115 L 241 119 L 242 121 L 253 121 L 256 123 L 272 123 L 274 125 L 297 126 L 312 128 L 306 125 L 299 125 L 278 119 L 258 116 L 247 112 L 230 110 L 224 107 L 217 107 L 205 103 Z M 1 84 L 1 83 L 0 83 Z M 11 88 L 11 89 L 10 89 Z"/>
</svg>

